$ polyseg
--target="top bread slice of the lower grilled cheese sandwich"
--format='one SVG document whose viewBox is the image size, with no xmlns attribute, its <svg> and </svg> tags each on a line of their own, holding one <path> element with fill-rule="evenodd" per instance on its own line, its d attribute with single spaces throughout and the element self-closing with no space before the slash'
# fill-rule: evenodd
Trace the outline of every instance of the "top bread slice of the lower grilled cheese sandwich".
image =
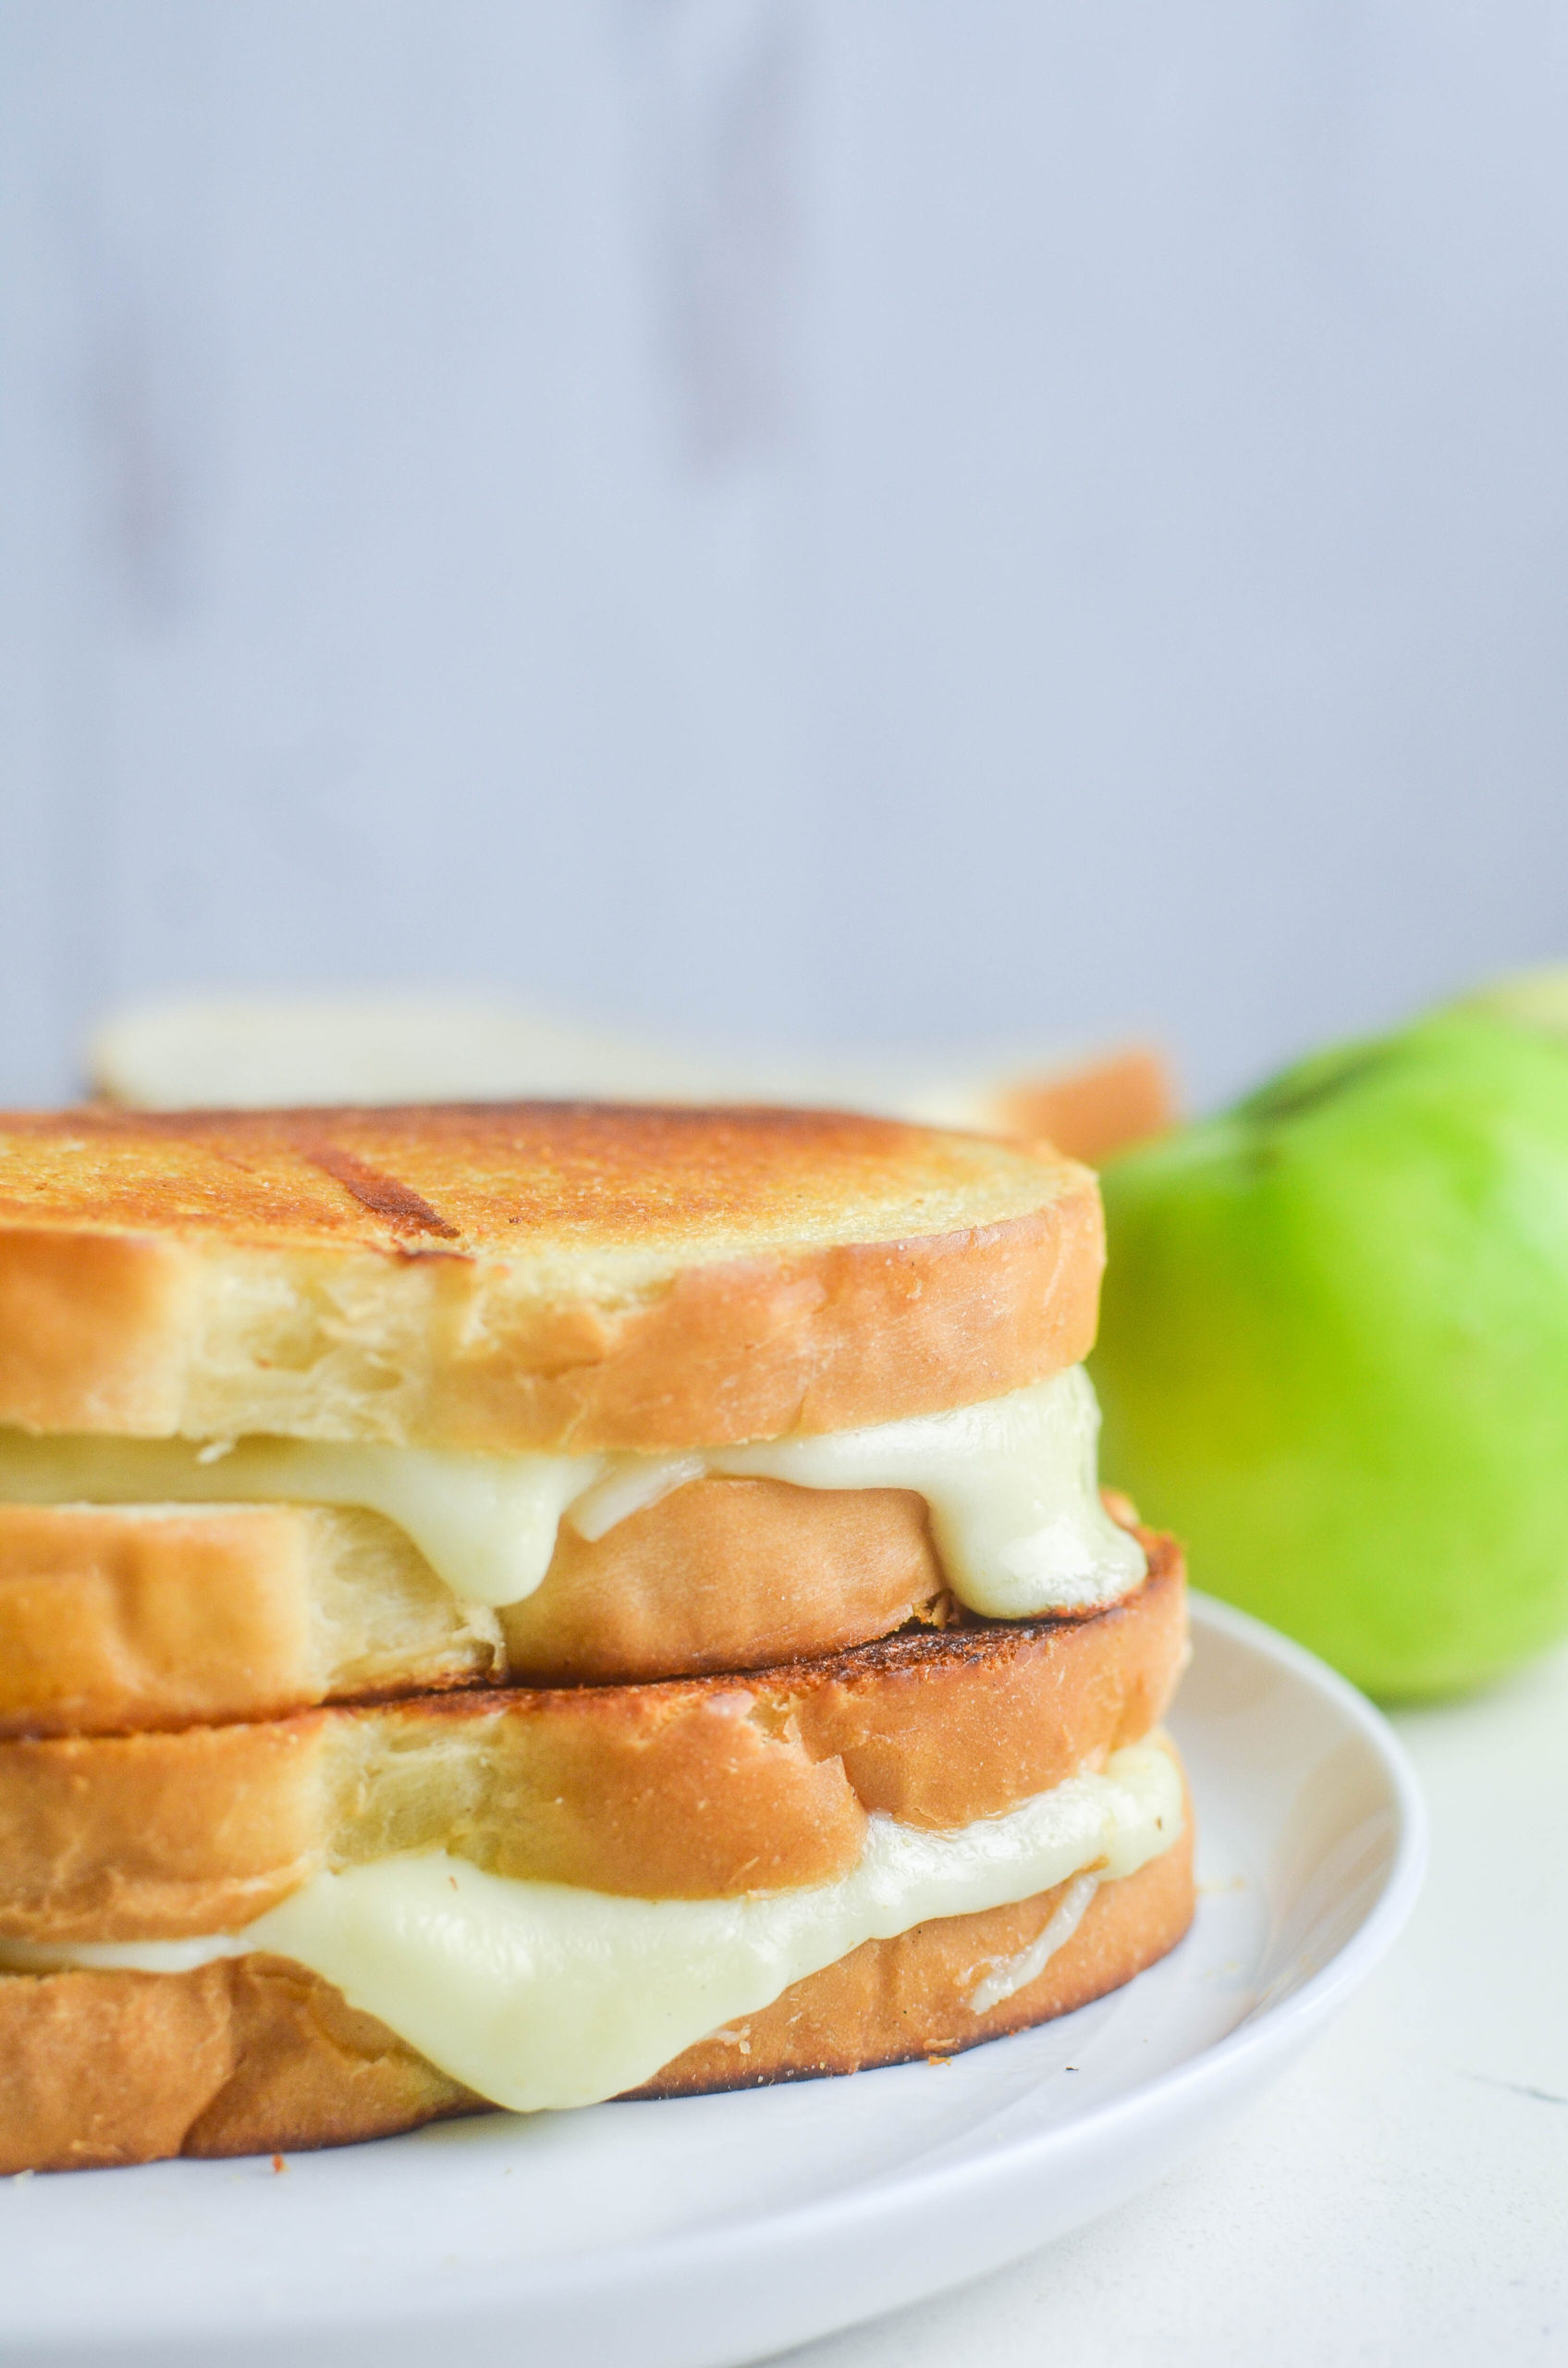
<svg viewBox="0 0 1568 2368">
<path fill-rule="evenodd" d="M 324 1866 L 448 1847 L 502 1875 L 701 1899 L 827 1883 L 865 1816 L 966 1826 L 1158 1724 L 1180 1553 L 1087 1620 L 905 1634 L 751 1677 L 419 1695 L 0 1745 L 0 1937 L 239 1930 Z"/>
</svg>

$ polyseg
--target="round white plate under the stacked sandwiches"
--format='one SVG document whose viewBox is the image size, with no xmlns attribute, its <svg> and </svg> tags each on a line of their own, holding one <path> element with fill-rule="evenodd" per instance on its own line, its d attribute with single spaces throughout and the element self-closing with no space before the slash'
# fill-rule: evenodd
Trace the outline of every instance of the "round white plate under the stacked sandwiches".
<svg viewBox="0 0 1568 2368">
<path fill-rule="evenodd" d="M 1199 1920 L 1116 1996 L 943 2067 L 0 2181 L 0 2356 L 732 2368 L 1092 2219 L 1324 2027 L 1421 1880 L 1388 1726 L 1270 1629 L 1194 1601 L 1172 1729 Z"/>
</svg>

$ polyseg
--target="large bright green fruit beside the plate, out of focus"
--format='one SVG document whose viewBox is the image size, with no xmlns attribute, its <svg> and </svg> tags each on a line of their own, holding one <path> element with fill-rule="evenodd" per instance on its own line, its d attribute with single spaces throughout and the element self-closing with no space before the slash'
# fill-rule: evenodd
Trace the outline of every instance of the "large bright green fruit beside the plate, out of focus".
<svg viewBox="0 0 1568 2368">
<path fill-rule="evenodd" d="M 1485 1009 L 1113 1160 L 1104 1478 L 1371 1693 L 1568 1632 L 1568 1040 Z"/>
</svg>

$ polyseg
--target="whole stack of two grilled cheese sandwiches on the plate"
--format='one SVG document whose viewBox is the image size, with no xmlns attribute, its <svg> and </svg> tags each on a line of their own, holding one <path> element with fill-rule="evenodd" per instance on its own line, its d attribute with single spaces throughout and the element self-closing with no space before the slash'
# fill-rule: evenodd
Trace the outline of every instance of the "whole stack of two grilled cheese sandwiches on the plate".
<svg viewBox="0 0 1568 2368">
<path fill-rule="evenodd" d="M 1094 1179 L 801 1111 L 0 1120 L 0 2169 L 945 2055 L 1191 1916 Z"/>
</svg>

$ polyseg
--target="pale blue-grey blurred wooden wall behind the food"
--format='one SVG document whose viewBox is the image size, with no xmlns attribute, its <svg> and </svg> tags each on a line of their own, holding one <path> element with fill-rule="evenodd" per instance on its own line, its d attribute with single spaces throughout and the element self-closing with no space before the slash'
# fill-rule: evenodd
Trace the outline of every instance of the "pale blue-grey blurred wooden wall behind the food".
<svg viewBox="0 0 1568 2368">
<path fill-rule="evenodd" d="M 0 1092 L 474 980 L 1213 1096 L 1568 947 L 1549 0 L 0 40 Z"/>
</svg>

